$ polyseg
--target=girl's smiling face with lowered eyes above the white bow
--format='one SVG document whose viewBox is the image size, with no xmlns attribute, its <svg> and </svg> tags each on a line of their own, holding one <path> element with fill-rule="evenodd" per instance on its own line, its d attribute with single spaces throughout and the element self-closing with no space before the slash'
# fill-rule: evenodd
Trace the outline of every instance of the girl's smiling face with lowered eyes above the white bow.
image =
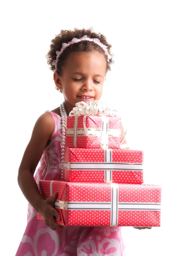
<svg viewBox="0 0 169 256">
<path fill-rule="evenodd" d="M 67 114 L 76 102 L 99 100 L 106 76 L 106 60 L 97 51 L 72 52 L 62 68 L 62 76 L 54 73 L 54 81 L 62 89 Z"/>
</svg>

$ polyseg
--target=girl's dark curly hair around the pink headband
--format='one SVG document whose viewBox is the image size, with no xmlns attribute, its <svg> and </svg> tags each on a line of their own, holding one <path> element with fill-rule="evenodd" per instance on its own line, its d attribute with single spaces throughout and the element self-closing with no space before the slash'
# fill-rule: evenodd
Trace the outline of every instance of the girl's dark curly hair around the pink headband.
<svg viewBox="0 0 169 256">
<path fill-rule="evenodd" d="M 51 40 L 50 50 L 46 56 L 51 70 L 55 69 L 55 66 L 52 65 L 52 62 L 56 60 L 56 51 L 60 51 L 62 47 L 62 43 L 68 43 L 73 38 L 81 38 L 84 35 L 87 35 L 89 38 L 98 38 L 102 44 L 107 46 L 108 53 L 111 55 L 110 53 L 110 48 L 112 47 L 111 44 L 107 43 L 107 38 L 104 35 L 93 32 L 93 28 L 90 28 L 90 29 L 75 28 L 74 30 L 61 30 L 60 33 L 56 35 L 54 39 Z M 76 44 L 71 44 L 62 52 L 57 63 L 57 71 L 56 71 L 57 74 L 58 75 L 62 74 L 62 67 L 64 66 L 65 61 L 68 58 L 68 55 L 70 54 L 70 52 L 82 52 L 82 51 L 90 52 L 93 50 L 97 50 L 98 52 L 101 52 L 105 56 L 105 59 L 107 62 L 106 72 L 110 70 L 110 65 L 114 63 L 113 59 L 111 58 L 110 61 L 108 62 L 107 55 L 105 55 L 104 50 L 99 45 L 90 41 L 81 41 Z"/>
</svg>

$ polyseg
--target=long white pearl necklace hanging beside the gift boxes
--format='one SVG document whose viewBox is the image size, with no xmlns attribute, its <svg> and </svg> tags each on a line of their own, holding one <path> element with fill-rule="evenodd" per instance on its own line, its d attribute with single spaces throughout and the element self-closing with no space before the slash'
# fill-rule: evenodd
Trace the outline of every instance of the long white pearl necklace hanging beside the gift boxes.
<svg viewBox="0 0 169 256">
<path fill-rule="evenodd" d="M 66 124 L 67 124 L 67 113 L 65 109 L 65 103 L 63 102 L 60 105 L 60 113 L 61 113 L 61 127 L 62 127 L 62 141 L 61 141 L 61 148 L 62 148 L 62 157 L 61 157 L 61 162 L 62 162 L 62 172 L 61 172 L 61 178 L 63 179 L 63 162 L 64 162 L 64 153 L 65 153 L 65 132 L 66 132 Z"/>
</svg>

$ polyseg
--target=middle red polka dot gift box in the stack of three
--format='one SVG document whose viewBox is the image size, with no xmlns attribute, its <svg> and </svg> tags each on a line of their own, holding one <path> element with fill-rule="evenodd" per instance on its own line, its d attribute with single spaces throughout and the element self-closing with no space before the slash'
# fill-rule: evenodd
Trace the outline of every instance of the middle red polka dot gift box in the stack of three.
<svg viewBox="0 0 169 256">
<path fill-rule="evenodd" d="M 66 148 L 62 179 L 70 182 L 143 183 L 143 151 Z"/>
</svg>

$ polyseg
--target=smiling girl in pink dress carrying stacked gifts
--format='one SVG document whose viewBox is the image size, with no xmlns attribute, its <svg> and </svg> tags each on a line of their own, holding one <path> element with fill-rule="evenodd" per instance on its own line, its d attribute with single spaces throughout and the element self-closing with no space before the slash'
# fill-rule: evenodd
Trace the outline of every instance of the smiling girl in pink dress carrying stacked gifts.
<svg viewBox="0 0 169 256">
<path fill-rule="evenodd" d="M 61 30 L 51 43 L 48 64 L 64 104 L 63 109 L 46 111 L 37 119 L 20 163 L 18 183 L 29 205 L 28 224 L 16 256 L 121 256 L 121 227 L 59 226 L 55 218 L 60 216 L 53 207 L 57 193 L 44 200 L 38 189 L 40 179 L 61 179 L 61 112 L 68 116 L 76 102 L 99 100 L 113 64 L 111 45 L 92 29 Z M 37 220 L 37 212 L 44 221 Z"/>
</svg>

